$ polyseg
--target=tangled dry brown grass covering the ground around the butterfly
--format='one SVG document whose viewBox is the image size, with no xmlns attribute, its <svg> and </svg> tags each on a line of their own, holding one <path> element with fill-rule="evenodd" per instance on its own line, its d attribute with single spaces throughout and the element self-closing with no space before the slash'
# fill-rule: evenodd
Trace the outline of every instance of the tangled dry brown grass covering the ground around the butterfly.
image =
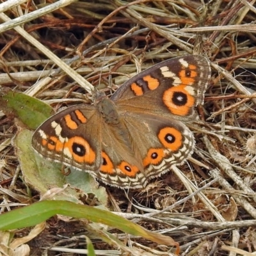
<svg viewBox="0 0 256 256">
<path fill-rule="evenodd" d="M 20 27 L 14 28 L 15 21 L 0 25 L 0 90 L 12 88 L 58 109 L 63 102 L 89 102 L 92 87 L 84 78 L 110 94 L 153 63 L 186 54 L 209 58 L 212 80 L 204 106 L 198 108 L 201 122 L 189 124 L 196 138 L 194 160 L 128 196 L 109 188 L 109 209 L 172 236 L 184 255 L 252 255 L 256 251 L 255 1 L 216 0 L 205 5 L 190 0 L 77 1 L 29 19 L 30 13 L 47 4 L 51 1 L 29 1 L 5 9 L 6 17 L 23 20 Z M 6 17 L 0 14 L 1 20 L 7 21 Z M 33 44 L 29 36 L 42 45 Z M 13 116 L 0 112 L 3 204 L 22 203 L 24 196 L 30 196 L 15 148 L 9 146 L 17 126 Z M 214 178 L 218 179 L 209 184 Z M 38 196 L 36 191 L 33 196 Z M 31 255 L 42 255 L 50 246 L 84 248 L 76 222 L 52 218 L 47 224 L 30 242 Z M 118 238 L 141 255 L 170 255 L 170 248 L 140 237 Z M 115 255 L 116 251 L 108 251 L 113 248 L 91 239 L 95 249 Z M 68 255 L 80 254 L 71 250 Z"/>
</svg>

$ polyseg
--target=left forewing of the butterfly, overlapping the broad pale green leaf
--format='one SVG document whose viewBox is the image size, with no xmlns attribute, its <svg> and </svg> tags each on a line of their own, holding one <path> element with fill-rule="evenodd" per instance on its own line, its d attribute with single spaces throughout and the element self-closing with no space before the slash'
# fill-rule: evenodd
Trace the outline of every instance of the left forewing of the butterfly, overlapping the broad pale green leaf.
<svg viewBox="0 0 256 256">
<path fill-rule="evenodd" d="M 100 115 L 95 106 L 77 105 L 60 111 L 42 124 L 32 137 L 41 156 L 79 170 L 100 168 Z"/>
</svg>

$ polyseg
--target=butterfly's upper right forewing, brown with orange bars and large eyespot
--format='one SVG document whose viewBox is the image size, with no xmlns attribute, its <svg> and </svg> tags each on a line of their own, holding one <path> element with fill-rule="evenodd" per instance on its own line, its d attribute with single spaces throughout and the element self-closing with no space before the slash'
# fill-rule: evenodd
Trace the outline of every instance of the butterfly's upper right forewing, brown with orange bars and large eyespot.
<svg viewBox="0 0 256 256">
<path fill-rule="evenodd" d="M 120 111 L 193 120 L 211 76 L 203 56 L 163 61 L 129 79 L 111 97 Z"/>
</svg>

